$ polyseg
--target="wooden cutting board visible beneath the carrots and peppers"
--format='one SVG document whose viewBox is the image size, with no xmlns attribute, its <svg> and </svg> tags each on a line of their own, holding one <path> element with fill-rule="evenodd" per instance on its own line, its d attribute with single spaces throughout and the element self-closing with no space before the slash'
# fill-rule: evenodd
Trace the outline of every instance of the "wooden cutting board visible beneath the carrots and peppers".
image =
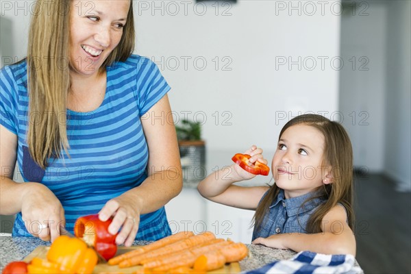
<svg viewBox="0 0 411 274">
<path fill-rule="evenodd" d="M 47 251 L 49 251 L 50 247 L 46 247 L 45 245 L 40 245 L 38 247 L 36 247 L 36 249 L 34 249 L 32 251 L 32 253 L 29 253 L 29 255 L 24 258 L 25 262 L 30 262 L 33 258 L 38 257 L 38 258 L 42 258 L 45 259 L 47 257 Z M 119 247 L 119 249 L 117 250 L 116 256 L 126 253 L 128 251 L 132 251 L 133 249 L 138 249 L 138 246 L 134 246 L 134 247 Z M 132 267 L 127 267 L 125 269 L 121 269 L 119 268 L 119 266 L 110 266 L 108 264 L 97 264 L 97 266 L 95 266 L 95 269 L 93 271 L 93 273 L 98 274 L 98 273 L 134 273 L 137 269 L 142 268 L 142 266 L 132 266 Z M 232 262 L 231 264 L 226 264 L 224 267 L 222 267 L 221 269 L 217 269 L 214 271 L 210 271 L 208 273 L 212 273 L 212 274 L 217 274 L 217 273 L 240 273 L 240 264 L 238 264 L 238 262 Z"/>
</svg>

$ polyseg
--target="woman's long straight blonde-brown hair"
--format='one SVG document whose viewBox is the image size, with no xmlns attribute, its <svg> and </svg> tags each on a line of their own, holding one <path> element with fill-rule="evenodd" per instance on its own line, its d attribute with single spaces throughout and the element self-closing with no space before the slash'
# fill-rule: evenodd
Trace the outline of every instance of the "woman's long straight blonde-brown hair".
<svg viewBox="0 0 411 274">
<path fill-rule="evenodd" d="M 29 114 L 27 145 L 33 160 L 45 169 L 50 158 L 68 154 L 66 132 L 71 1 L 38 0 L 29 28 L 27 88 Z M 133 1 L 119 45 L 105 60 L 100 72 L 116 61 L 125 61 L 134 51 Z"/>
</svg>

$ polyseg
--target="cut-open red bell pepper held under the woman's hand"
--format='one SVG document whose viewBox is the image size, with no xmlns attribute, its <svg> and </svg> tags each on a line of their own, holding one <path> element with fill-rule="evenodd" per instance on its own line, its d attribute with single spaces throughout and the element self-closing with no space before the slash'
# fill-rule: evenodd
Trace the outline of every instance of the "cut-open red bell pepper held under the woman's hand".
<svg viewBox="0 0 411 274">
<path fill-rule="evenodd" d="M 116 255 L 116 234 L 110 234 L 108 232 L 108 226 L 112 222 L 100 221 L 99 215 L 82 216 L 74 225 L 74 234 L 78 238 L 82 238 L 87 245 L 94 247 L 105 260 L 109 260 Z"/>
</svg>

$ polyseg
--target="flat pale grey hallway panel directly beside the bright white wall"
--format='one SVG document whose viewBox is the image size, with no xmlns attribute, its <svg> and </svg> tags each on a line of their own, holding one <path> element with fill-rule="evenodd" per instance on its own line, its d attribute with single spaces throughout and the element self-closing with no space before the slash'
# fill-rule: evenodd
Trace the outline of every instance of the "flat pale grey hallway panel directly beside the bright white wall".
<svg viewBox="0 0 411 274">
<path fill-rule="evenodd" d="M 341 18 L 341 56 L 347 63 L 340 74 L 340 110 L 345 114 L 343 125 L 351 137 L 354 165 L 382 172 L 387 9 L 380 2 L 349 3 Z"/>
</svg>

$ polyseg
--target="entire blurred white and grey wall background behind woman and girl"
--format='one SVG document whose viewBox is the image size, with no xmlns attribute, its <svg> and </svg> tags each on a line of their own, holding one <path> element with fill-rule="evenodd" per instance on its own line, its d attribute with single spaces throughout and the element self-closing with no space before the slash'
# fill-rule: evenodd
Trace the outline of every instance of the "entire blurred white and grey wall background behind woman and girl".
<svg viewBox="0 0 411 274">
<path fill-rule="evenodd" d="M 1 2 L 3 64 L 25 56 L 33 8 Z M 203 123 L 208 151 L 255 143 L 270 159 L 284 123 L 314 112 L 349 130 L 356 166 L 411 189 L 409 0 L 134 1 L 134 10 L 135 52 L 172 86 L 175 122 Z"/>
</svg>

